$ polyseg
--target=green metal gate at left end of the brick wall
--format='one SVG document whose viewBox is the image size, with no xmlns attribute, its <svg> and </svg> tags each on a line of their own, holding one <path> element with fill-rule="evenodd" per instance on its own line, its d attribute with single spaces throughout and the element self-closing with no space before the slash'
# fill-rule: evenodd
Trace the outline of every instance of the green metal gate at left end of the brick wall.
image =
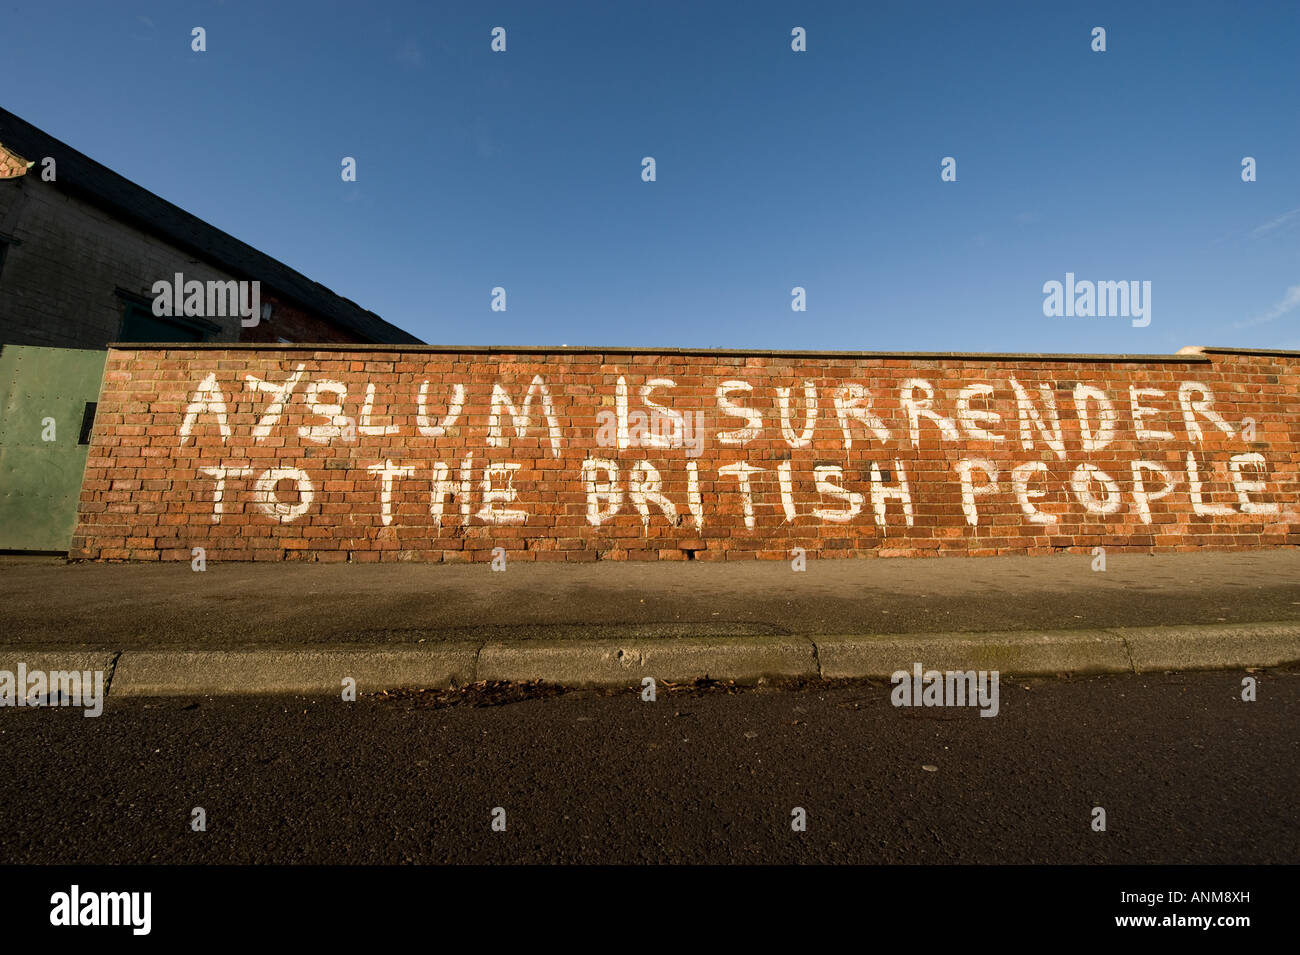
<svg viewBox="0 0 1300 955">
<path fill-rule="evenodd" d="M 68 552 L 107 357 L 0 346 L 0 550 Z"/>
</svg>

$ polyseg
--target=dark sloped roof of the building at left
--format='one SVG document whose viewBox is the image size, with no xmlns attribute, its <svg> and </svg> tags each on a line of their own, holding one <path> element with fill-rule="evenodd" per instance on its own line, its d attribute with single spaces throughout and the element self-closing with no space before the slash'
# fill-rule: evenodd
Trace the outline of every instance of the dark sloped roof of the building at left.
<svg viewBox="0 0 1300 955">
<path fill-rule="evenodd" d="M 52 185 L 58 188 L 110 212 L 151 235 L 165 239 L 177 248 L 218 265 L 233 275 L 250 281 L 259 279 L 283 298 L 315 312 L 333 325 L 360 335 L 367 342 L 422 344 L 415 335 L 390 325 L 355 301 L 335 295 L 300 272 L 136 186 L 3 108 L 0 108 L 0 143 L 23 159 L 36 161 L 38 165 L 32 166 L 29 175 L 39 174 L 40 160 L 53 156 L 58 177 Z"/>
</svg>

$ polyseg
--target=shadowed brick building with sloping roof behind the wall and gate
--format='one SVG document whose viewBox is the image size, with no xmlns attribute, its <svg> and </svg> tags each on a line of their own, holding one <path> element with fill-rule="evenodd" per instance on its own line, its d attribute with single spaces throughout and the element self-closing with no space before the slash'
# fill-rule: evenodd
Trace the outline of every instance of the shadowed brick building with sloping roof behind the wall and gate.
<svg viewBox="0 0 1300 955">
<path fill-rule="evenodd" d="M 156 283 L 177 275 L 207 295 L 159 316 L 177 309 L 155 309 Z M 237 291 L 256 301 L 256 317 L 224 307 Z M 0 109 L 0 344 L 110 342 L 420 344 Z"/>
</svg>

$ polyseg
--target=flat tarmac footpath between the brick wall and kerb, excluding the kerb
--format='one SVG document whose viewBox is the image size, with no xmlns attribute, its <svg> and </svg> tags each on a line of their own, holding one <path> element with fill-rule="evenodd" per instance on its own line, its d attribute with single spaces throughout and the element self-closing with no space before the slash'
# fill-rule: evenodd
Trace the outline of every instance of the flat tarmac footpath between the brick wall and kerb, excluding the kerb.
<svg viewBox="0 0 1300 955">
<path fill-rule="evenodd" d="M 594 565 L 0 557 L 0 646 L 1065 630 L 1300 620 L 1300 550 Z"/>
</svg>

